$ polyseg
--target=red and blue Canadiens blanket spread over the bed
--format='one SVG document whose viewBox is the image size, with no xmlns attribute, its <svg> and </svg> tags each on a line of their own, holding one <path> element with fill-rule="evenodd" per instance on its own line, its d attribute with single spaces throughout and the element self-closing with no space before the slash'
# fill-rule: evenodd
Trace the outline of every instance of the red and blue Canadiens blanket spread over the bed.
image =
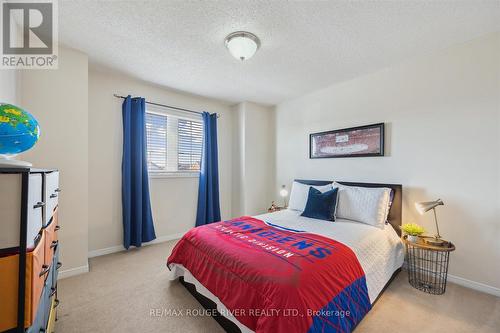
<svg viewBox="0 0 500 333">
<path fill-rule="evenodd" d="M 191 229 L 171 264 L 188 269 L 255 332 L 350 332 L 371 308 L 349 247 L 251 217 Z"/>
</svg>

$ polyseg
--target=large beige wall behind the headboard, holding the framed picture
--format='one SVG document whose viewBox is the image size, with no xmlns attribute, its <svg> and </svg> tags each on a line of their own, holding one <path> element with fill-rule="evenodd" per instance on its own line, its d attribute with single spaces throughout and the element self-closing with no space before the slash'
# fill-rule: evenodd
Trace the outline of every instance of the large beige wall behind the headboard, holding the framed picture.
<svg viewBox="0 0 500 333">
<path fill-rule="evenodd" d="M 404 222 L 432 234 L 414 202 L 442 198 L 450 274 L 500 288 L 500 35 L 330 86 L 278 105 L 277 184 L 294 178 L 403 184 Z M 375 122 L 385 157 L 308 158 L 308 135 Z"/>
</svg>

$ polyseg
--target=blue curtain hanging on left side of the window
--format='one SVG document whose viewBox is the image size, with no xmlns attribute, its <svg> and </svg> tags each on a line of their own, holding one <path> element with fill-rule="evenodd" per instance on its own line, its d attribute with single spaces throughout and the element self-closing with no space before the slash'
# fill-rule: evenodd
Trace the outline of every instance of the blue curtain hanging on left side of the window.
<svg viewBox="0 0 500 333">
<path fill-rule="evenodd" d="M 122 105 L 123 245 L 126 249 L 156 238 L 149 201 L 145 105 L 144 98 L 130 95 Z"/>
</svg>

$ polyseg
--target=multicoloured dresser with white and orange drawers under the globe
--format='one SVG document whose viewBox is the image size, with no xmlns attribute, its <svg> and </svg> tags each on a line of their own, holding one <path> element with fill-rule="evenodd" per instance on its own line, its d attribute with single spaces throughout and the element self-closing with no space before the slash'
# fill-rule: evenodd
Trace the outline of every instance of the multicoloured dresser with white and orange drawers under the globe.
<svg viewBox="0 0 500 333">
<path fill-rule="evenodd" d="M 0 332 L 53 333 L 59 172 L 0 168 Z"/>
</svg>

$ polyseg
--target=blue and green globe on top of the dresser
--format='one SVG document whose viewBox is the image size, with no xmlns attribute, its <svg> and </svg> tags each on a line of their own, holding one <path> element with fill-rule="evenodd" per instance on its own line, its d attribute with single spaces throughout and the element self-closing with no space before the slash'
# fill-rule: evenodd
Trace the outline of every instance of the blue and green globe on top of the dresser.
<svg viewBox="0 0 500 333">
<path fill-rule="evenodd" d="M 0 104 L 0 155 L 8 158 L 22 153 L 33 147 L 39 136 L 40 127 L 31 114 L 11 104 Z"/>
</svg>

